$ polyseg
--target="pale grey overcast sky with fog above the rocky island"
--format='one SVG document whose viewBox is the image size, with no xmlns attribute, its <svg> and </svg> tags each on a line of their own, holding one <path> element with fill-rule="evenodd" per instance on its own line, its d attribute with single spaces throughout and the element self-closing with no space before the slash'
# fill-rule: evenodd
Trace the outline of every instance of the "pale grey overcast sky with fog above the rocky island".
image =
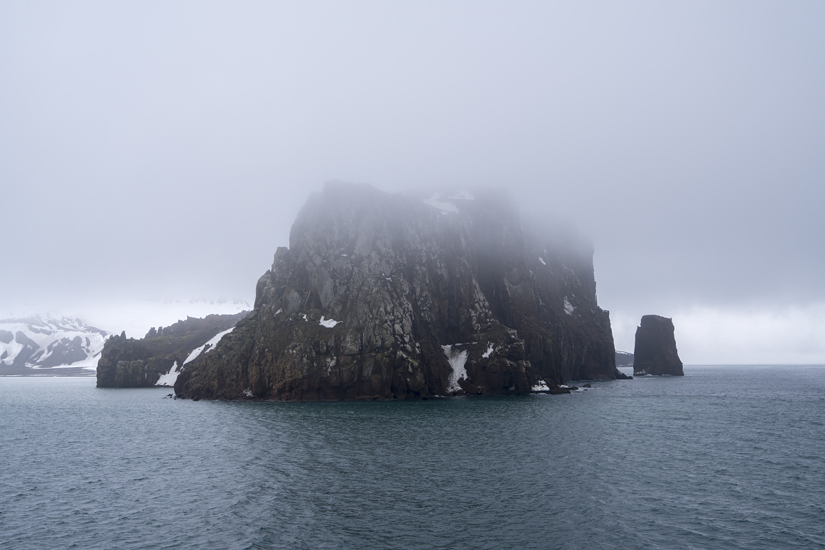
<svg viewBox="0 0 825 550">
<path fill-rule="evenodd" d="M 823 29 L 819 1 L 5 0 L 0 310 L 252 302 L 325 181 L 497 186 L 592 238 L 618 349 L 657 313 L 687 364 L 825 363 Z"/>
</svg>

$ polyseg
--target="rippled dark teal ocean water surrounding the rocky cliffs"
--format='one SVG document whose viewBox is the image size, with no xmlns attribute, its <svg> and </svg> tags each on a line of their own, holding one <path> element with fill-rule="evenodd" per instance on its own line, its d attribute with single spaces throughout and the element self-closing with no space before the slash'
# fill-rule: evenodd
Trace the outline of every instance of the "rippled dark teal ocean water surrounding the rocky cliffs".
<svg viewBox="0 0 825 550">
<path fill-rule="evenodd" d="M 825 367 L 191 402 L 0 378 L 0 548 L 825 548 Z"/>
</svg>

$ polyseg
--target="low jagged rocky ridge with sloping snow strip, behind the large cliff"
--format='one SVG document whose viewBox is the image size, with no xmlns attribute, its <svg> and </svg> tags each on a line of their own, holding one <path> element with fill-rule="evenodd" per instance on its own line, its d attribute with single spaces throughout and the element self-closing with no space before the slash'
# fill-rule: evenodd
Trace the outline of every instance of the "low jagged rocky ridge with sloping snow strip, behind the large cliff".
<svg viewBox="0 0 825 550">
<path fill-rule="evenodd" d="M 112 336 L 97 362 L 98 388 L 172 385 L 180 367 L 205 353 L 248 312 L 187 317 L 169 327 L 152 327 L 144 338 Z"/>
</svg>

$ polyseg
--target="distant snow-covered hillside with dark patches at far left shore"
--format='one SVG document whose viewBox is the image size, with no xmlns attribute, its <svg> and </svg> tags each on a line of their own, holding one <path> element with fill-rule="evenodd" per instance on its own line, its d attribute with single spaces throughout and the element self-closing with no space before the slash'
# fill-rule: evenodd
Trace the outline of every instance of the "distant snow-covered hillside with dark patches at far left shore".
<svg viewBox="0 0 825 550">
<path fill-rule="evenodd" d="M 94 370 L 109 332 L 74 317 L 0 320 L 0 374 L 59 366 Z"/>
</svg>

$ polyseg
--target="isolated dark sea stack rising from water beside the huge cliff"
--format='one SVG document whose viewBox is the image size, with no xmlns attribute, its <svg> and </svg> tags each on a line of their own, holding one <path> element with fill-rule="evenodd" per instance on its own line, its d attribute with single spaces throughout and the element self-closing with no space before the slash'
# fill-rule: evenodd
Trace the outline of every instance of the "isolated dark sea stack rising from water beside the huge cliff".
<svg viewBox="0 0 825 550">
<path fill-rule="evenodd" d="M 684 376 L 672 319 L 645 315 L 636 328 L 633 374 Z"/>
</svg>

